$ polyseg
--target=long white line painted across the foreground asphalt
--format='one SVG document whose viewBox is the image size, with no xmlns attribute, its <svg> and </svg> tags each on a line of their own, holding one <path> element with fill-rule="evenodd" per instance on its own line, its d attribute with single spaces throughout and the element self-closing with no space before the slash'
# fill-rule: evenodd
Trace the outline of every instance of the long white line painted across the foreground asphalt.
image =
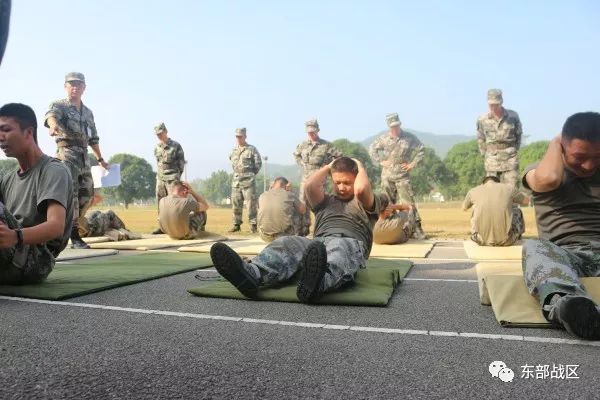
<svg viewBox="0 0 600 400">
<path fill-rule="evenodd" d="M 352 331 L 354 331 L 354 332 L 372 332 L 372 333 L 385 333 L 385 334 L 392 334 L 392 335 L 458 337 L 458 338 L 463 338 L 463 339 L 470 338 L 470 339 L 487 339 L 487 340 L 514 340 L 514 341 L 520 341 L 520 342 L 533 342 L 533 343 L 544 343 L 544 344 L 552 343 L 552 344 L 569 344 L 569 345 L 600 347 L 600 341 L 592 342 L 592 341 L 578 340 L 578 339 L 544 338 L 544 337 L 539 337 L 539 336 L 522 336 L 522 335 L 499 335 L 499 334 L 475 333 L 475 332 L 446 332 L 446 331 L 427 331 L 427 330 L 413 330 L 413 329 L 395 329 L 395 328 L 384 328 L 384 327 L 376 327 L 376 326 L 329 325 L 329 324 L 313 323 L 313 322 L 277 321 L 277 320 L 258 319 L 258 318 L 229 317 L 229 316 L 224 316 L 224 315 L 208 315 L 208 314 L 195 314 L 195 313 L 184 313 L 184 312 L 175 312 L 175 311 L 151 310 L 151 309 L 143 309 L 143 308 L 105 306 L 102 304 L 72 303 L 72 302 L 68 302 L 68 301 L 25 299 L 25 298 L 21 298 L 21 297 L 10 297 L 10 296 L 0 296 L 0 300 L 16 301 L 16 302 L 22 302 L 22 303 L 47 304 L 47 305 L 52 305 L 52 306 L 66 306 L 66 307 L 79 307 L 79 308 L 107 310 L 107 311 L 120 311 L 120 312 L 134 313 L 134 314 L 152 314 L 152 315 L 163 315 L 163 316 L 168 316 L 168 317 L 242 322 L 242 323 L 247 323 L 247 324 L 269 324 L 269 325 L 295 326 L 295 327 L 310 328 L 310 329 L 344 330 L 344 331 L 351 331 L 351 332 Z"/>
</svg>

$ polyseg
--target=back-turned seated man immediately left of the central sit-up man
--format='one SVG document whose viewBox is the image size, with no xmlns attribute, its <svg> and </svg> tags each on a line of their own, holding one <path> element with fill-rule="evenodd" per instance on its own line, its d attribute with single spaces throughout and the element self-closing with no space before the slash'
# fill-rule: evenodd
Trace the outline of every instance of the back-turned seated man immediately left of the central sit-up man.
<svg viewBox="0 0 600 400">
<path fill-rule="evenodd" d="M 275 178 L 269 190 L 258 198 L 258 233 L 265 242 L 280 236 L 300 235 L 306 206 L 291 191 L 287 179 Z"/>
</svg>

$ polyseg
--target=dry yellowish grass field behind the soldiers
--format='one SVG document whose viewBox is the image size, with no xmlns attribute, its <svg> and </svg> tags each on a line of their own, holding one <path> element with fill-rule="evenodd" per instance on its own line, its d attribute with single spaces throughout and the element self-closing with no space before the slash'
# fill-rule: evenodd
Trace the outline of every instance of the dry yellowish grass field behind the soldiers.
<svg viewBox="0 0 600 400">
<path fill-rule="evenodd" d="M 467 239 L 469 236 L 471 211 L 461 210 L 460 202 L 421 203 L 418 205 L 423 229 L 430 239 Z M 106 210 L 105 207 L 95 207 Z M 140 233 L 150 233 L 158 227 L 155 207 L 130 206 L 112 207 L 125 222 L 127 227 Z M 533 207 L 522 208 L 525 217 L 525 236 L 537 236 Z M 231 227 L 230 208 L 210 208 L 206 229 L 211 232 L 225 234 Z M 247 213 L 244 210 L 244 224 L 240 235 L 249 235 L 250 226 L 247 223 Z"/>
</svg>

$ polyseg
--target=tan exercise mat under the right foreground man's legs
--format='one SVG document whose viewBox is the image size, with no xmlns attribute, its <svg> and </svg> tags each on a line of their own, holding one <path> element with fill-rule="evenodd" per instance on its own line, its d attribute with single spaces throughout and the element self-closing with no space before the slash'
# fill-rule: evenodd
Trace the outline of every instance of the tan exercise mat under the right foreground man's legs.
<svg viewBox="0 0 600 400">
<path fill-rule="evenodd" d="M 485 284 L 496 319 L 502 326 L 543 328 L 551 325 L 542 314 L 539 301 L 529 294 L 522 276 L 490 275 Z M 600 302 L 600 278 L 581 278 L 596 303 Z"/>
</svg>

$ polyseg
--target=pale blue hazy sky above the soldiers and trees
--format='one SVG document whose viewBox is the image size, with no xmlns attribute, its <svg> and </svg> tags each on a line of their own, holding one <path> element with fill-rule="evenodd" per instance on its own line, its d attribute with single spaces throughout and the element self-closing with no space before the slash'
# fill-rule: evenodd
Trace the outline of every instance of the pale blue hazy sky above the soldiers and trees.
<svg viewBox="0 0 600 400">
<path fill-rule="evenodd" d="M 393 111 L 407 128 L 474 135 L 491 87 L 531 142 L 598 111 L 598 21 L 597 0 L 17 0 L 0 103 L 41 120 L 81 71 L 105 158 L 155 166 L 164 121 L 189 179 L 229 169 L 239 126 L 277 163 L 293 162 L 311 117 L 330 140 L 363 140 Z"/>
</svg>

